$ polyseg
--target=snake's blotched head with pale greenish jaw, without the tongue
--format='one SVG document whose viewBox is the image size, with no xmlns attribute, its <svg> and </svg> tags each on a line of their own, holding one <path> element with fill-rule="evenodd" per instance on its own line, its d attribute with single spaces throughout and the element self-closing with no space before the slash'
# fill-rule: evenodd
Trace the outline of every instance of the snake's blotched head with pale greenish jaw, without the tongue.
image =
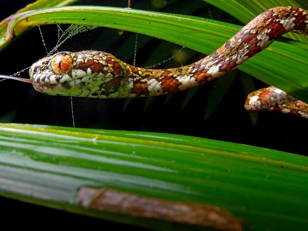
<svg viewBox="0 0 308 231">
<path fill-rule="evenodd" d="M 59 52 L 29 70 L 35 90 L 49 95 L 121 97 L 125 63 L 101 51 Z M 123 96 L 122 96 L 123 97 Z"/>
</svg>

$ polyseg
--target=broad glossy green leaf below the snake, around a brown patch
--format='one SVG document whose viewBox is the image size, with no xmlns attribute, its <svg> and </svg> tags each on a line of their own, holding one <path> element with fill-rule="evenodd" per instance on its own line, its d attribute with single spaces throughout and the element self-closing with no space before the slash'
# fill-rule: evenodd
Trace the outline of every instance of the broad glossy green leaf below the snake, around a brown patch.
<svg viewBox="0 0 308 231">
<path fill-rule="evenodd" d="M 305 156 L 190 136 L 0 124 L 0 193 L 39 205 L 157 230 L 165 221 L 82 208 L 79 189 L 109 187 L 216 205 L 245 230 L 305 230 Z"/>
</svg>

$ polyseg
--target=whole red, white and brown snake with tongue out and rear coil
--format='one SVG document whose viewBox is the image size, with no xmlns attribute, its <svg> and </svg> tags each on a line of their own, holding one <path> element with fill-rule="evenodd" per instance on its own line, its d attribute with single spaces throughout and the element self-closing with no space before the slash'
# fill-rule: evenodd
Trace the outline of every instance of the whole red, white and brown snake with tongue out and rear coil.
<svg viewBox="0 0 308 231">
<path fill-rule="evenodd" d="M 220 48 L 183 67 L 135 67 L 102 51 L 59 52 L 35 62 L 30 79 L 35 90 L 49 95 L 126 98 L 169 94 L 225 75 L 287 32 L 308 37 L 308 11 L 278 6 L 259 14 Z M 247 96 L 247 111 L 281 111 L 308 118 L 308 104 L 276 87 Z"/>
</svg>

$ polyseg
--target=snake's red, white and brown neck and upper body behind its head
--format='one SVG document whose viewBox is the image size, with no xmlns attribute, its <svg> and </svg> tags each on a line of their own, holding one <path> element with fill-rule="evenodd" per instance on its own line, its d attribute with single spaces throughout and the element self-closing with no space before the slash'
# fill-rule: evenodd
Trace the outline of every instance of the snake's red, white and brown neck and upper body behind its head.
<svg viewBox="0 0 308 231">
<path fill-rule="evenodd" d="M 283 6 L 258 15 L 211 55 L 188 66 L 154 70 L 125 64 L 126 97 L 153 96 L 184 90 L 216 79 L 253 57 L 275 39 L 293 31 L 307 35 L 307 10 Z"/>
</svg>

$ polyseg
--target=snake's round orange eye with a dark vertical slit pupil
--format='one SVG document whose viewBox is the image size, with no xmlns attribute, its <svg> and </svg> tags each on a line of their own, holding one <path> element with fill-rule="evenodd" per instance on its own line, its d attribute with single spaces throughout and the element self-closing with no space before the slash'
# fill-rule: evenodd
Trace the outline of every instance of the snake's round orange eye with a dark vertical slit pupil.
<svg viewBox="0 0 308 231">
<path fill-rule="evenodd" d="M 62 52 L 56 54 L 51 59 L 51 70 L 57 75 L 63 75 L 71 71 L 73 67 L 73 59 L 71 55 Z"/>
</svg>

